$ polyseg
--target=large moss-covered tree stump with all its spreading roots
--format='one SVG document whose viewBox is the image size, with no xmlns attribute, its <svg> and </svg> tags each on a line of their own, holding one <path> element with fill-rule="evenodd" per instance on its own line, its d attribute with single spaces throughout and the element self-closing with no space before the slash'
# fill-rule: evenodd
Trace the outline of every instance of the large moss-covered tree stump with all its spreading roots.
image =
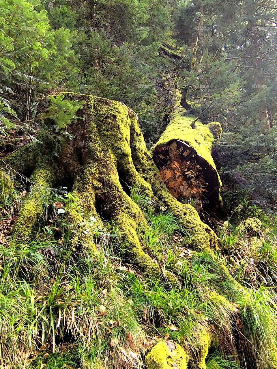
<svg viewBox="0 0 277 369">
<path fill-rule="evenodd" d="M 66 178 L 73 183 L 72 193 L 88 214 L 98 222 L 101 222 L 100 213 L 101 217 L 115 221 L 124 239 L 125 257 L 146 275 L 158 278 L 162 270 L 139 242 L 138 227 L 147 229 L 149 226 L 142 211 L 128 196 L 126 183 L 139 186 L 160 208 L 178 217 L 190 235 L 191 248 L 207 250 L 215 246 L 214 232 L 200 221 L 197 211 L 189 204 L 181 204 L 167 190 L 146 149 L 133 111 L 118 101 L 74 93 L 65 96 L 84 101 L 82 112 L 78 113 L 83 118 L 68 127 L 76 138 L 63 144 L 59 161 L 55 165 L 51 162 L 51 147 L 45 139 L 40 139 L 44 144 L 27 144 L 6 158 L 9 168 L 16 172 L 26 175 L 33 171 L 32 191 L 25 197 L 14 225 L 17 237 L 32 237 L 32 229 L 41 213 L 41 192 Z M 208 132 L 207 127 L 205 130 Z M 210 167 L 211 173 L 212 170 L 216 173 L 212 165 Z M 67 217 L 74 226 L 84 221 L 74 209 L 67 212 Z M 72 242 L 93 249 L 91 234 Z"/>
</svg>

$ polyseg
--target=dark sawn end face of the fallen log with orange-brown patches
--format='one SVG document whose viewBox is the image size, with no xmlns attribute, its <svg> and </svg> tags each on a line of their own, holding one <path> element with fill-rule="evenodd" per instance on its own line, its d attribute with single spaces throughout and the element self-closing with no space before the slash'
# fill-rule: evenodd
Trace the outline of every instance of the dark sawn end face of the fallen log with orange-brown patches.
<svg viewBox="0 0 277 369">
<path fill-rule="evenodd" d="M 169 192 L 197 210 L 217 206 L 219 181 L 216 170 L 186 142 L 173 139 L 157 146 L 153 159 Z"/>
</svg>

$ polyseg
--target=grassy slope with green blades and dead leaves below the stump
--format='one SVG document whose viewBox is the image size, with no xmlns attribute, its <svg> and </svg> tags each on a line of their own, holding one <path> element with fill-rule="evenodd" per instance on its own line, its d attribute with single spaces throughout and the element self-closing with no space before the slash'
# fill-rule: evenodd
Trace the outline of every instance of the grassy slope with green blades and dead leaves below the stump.
<svg viewBox="0 0 277 369">
<path fill-rule="evenodd" d="M 149 280 L 122 262 L 118 249 L 123 242 L 116 224 L 107 220 L 99 225 L 89 218 L 96 251 L 71 244 L 72 234 L 81 234 L 86 226 L 71 227 L 67 209 L 73 206 L 80 214 L 83 209 L 70 193 L 48 194 L 36 237 L 10 235 L 0 244 L 1 365 L 140 369 L 157 339 L 174 340 L 194 357 L 198 331 L 208 327 L 217 337 L 208 369 L 273 367 L 274 292 L 252 286 L 246 275 L 234 272 L 241 285 L 236 284 L 223 256 L 224 250 L 236 250 L 247 229 L 225 225 L 217 256 L 194 252 L 187 248 L 189 237 L 176 218 L 156 209 L 135 187 L 131 197 L 149 224 L 148 232 L 138 230 L 143 249 L 176 283 L 162 276 Z M 266 222 L 263 227 L 268 227 Z M 274 239 L 270 234 L 256 252 L 264 261 L 265 255 L 271 258 L 275 267 Z"/>
</svg>

